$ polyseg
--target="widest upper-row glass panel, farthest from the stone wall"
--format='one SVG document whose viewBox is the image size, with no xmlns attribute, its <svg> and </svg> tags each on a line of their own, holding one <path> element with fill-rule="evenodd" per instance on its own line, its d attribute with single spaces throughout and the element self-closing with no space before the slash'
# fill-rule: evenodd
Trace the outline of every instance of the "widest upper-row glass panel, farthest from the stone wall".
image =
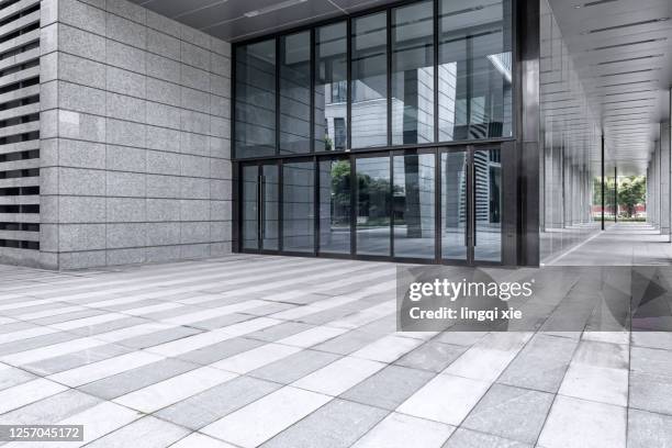
<svg viewBox="0 0 672 448">
<path fill-rule="evenodd" d="M 439 141 L 512 135 L 511 1 L 439 2 Z"/>
</svg>

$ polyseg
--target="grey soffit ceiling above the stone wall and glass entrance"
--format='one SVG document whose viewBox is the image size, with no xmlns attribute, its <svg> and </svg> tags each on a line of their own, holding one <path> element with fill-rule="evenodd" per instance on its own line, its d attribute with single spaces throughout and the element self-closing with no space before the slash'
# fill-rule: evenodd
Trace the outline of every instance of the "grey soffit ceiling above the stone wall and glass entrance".
<svg viewBox="0 0 672 448">
<path fill-rule="evenodd" d="M 132 0 L 228 42 L 391 3 L 389 0 Z"/>
</svg>

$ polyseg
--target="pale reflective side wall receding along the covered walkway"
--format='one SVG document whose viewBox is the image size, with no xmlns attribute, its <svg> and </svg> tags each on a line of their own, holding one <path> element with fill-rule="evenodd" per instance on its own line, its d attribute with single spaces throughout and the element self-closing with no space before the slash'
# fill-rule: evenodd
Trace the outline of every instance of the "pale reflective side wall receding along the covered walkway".
<svg viewBox="0 0 672 448">
<path fill-rule="evenodd" d="M 597 121 L 547 0 L 540 14 L 540 251 L 551 260 L 600 229 L 593 187 L 600 175 Z M 596 170 L 597 169 L 597 170 Z"/>
</svg>

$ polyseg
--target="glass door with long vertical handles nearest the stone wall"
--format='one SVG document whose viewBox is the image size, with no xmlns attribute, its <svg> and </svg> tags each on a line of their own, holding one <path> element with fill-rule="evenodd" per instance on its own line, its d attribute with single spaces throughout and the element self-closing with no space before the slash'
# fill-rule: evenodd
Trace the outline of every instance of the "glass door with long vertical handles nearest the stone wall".
<svg viewBox="0 0 672 448">
<path fill-rule="evenodd" d="M 279 169 L 278 164 L 243 166 L 242 231 L 243 249 L 279 250 Z"/>
</svg>

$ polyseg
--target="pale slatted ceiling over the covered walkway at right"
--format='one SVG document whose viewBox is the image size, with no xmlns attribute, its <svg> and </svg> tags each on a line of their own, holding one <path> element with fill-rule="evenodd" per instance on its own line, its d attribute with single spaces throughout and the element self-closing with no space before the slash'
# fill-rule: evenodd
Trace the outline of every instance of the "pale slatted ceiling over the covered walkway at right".
<svg viewBox="0 0 672 448">
<path fill-rule="evenodd" d="M 550 0 L 618 172 L 643 173 L 670 120 L 671 0 Z M 613 164 L 609 164 L 613 165 Z"/>
</svg>

